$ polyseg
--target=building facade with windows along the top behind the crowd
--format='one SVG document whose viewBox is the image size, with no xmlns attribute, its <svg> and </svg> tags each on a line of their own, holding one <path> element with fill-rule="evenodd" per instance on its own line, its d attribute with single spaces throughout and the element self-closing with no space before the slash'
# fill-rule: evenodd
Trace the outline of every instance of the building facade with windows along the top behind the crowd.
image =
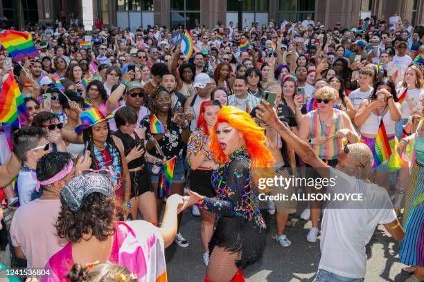
<svg viewBox="0 0 424 282">
<path fill-rule="evenodd" d="M 281 22 L 301 21 L 307 15 L 333 27 L 357 26 L 359 19 L 384 15 L 389 19 L 395 10 L 412 26 L 424 23 L 424 0 L 92 0 L 94 17 L 105 26 L 130 27 L 149 24 L 182 25 L 193 28 L 204 24 L 213 28 L 218 21 L 238 24 L 241 5 L 243 26 L 260 25 L 270 19 Z M 78 3 L 78 4 L 77 4 Z M 0 16 L 20 27 L 28 21 L 46 23 L 73 13 L 82 17 L 82 0 L 0 0 Z"/>
</svg>

